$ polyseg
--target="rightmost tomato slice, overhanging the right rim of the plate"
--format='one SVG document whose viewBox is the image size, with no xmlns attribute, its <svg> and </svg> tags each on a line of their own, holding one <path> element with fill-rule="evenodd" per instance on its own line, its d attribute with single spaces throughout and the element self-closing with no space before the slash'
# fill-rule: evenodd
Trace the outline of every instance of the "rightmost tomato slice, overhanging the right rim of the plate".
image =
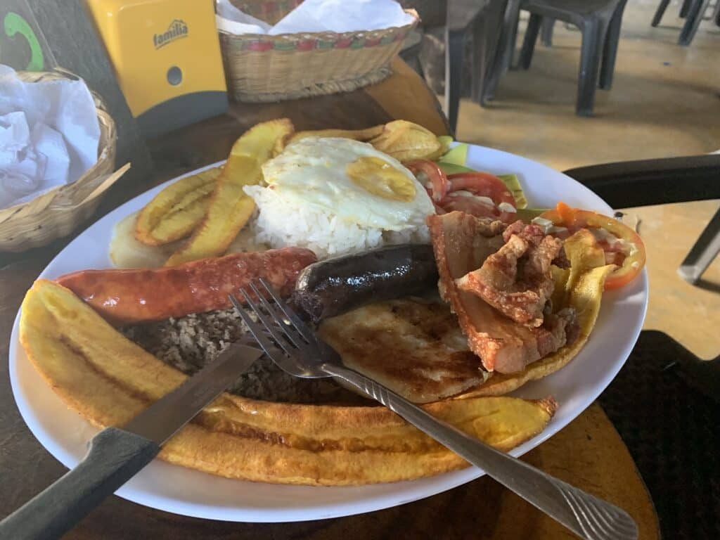
<svg viewBox="0 0 720 540">
<path fill-rule="evenodd" d="M 565 227 L 569 232 L 587 228 L 595 233 L 598 245 L 606 252 L 606 260 L 619 266 L 605 282 L 605 289 L 620 289 L 629 284 L 645 266 L 645 245 L 642 238 L 631 228 L 613 217 L 572 208 L 559 202 L 554 210 L 540 215 L 558 227 Z"/>
</svg>

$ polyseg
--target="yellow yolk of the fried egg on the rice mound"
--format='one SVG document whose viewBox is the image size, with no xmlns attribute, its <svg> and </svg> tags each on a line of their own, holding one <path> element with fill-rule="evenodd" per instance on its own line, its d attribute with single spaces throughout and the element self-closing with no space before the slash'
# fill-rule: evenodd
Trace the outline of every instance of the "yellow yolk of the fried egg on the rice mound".
<svg viewBox="0 0 720 540">
<path fill-rule="evenodd" d="M 348 163 L 345 172 L 356 185 L 377 197 L 402 202 L 415 198 L 414 182 L 380 158 L 357 158 Z"/>
</svg>

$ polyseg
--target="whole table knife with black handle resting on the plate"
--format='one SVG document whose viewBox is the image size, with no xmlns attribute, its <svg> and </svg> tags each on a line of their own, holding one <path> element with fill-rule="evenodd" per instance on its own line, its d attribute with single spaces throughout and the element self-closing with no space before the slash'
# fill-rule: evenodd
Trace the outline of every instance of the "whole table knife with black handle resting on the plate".
<svg viewBox="0 0 720 540">
<path fill-rule="evenodd" d="M 77 467 L 0 522 L 0 539 L 58 539 L 150 463 L 168 438 L 262 354 L 258 348 L 233 343 L 122 428 L 105 428 L 91 439 Z"/>
</svg>

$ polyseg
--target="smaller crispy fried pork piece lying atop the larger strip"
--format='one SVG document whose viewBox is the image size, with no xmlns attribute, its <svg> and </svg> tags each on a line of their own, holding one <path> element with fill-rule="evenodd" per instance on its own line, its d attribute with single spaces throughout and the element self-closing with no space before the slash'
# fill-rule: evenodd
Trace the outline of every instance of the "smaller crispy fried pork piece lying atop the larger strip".
<svg viewBox="0 0 720 540">
<path fill-rule="evenodd" d="M 455 283 L 516 323 L 540 326 L 554 287 L 550 264 L 562 248 L 562 240 L 521 221 L 505 229 L 503 239 L 505 245 L 488 256 L 479 269 Z"/>
</svg>

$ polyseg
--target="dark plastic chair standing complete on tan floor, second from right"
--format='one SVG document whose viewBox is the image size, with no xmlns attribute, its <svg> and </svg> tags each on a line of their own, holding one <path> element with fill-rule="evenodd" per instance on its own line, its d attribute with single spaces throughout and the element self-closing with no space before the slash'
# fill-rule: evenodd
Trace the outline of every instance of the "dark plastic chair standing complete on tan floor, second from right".
<svg viewBox="0 0 720 540">
<path fill-rule="evenodd" d="M 627 0 L 521 0 L 520 7 L 530 12 L 530 20 L 520 53 L 520 67 L 530 67 L 543 17 L 575 24 L 582 32 L 575 112 L 580 116 L 591 116 L 595 105 L 595 87 L 609 90 L 613 84 L 626 2 Z"/>
</svg>

